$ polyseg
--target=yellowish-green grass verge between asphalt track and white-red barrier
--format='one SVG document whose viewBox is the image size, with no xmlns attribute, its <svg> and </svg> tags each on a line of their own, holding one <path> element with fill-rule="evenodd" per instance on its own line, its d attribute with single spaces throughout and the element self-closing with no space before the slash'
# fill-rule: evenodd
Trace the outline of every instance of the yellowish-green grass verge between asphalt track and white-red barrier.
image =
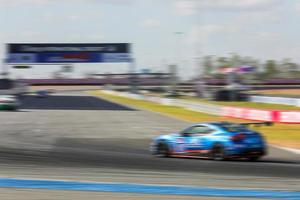
<svg viewBox="0 0 300 200">
<path fill-rule="evenodd" d="M 144 100 L 135 100 L 126 97 L 106 94 L 101 91 L 94 91 L 90 93 L 94 96 L 102 97 L 120 104 L 125 104 L 139 109 L 158 112 L 161 114 L 178 118 L 180 120 L 190 121 L 191 123 L 203 121 L 245 122 L 245 120 L 209 115 L 205 113 L 186 110 L 181 107 L 165 106 Z M 260 131 L 266 137 L 268 143 L 270 144 L 300 149 L 299 124 L 274 124 L 274 126 L 256 128 L 256 130 Z"/>
</svg>

